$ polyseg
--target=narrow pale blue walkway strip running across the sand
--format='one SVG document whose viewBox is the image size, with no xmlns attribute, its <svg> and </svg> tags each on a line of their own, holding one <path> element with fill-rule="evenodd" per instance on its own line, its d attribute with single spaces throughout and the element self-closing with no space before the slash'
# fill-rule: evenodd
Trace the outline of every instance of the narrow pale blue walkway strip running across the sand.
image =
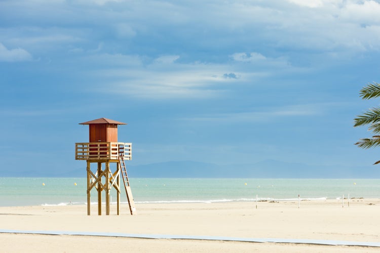
<svg viewBox="0 0 380 253">
<path fill-rule="evenodd" d="M 244 237 L 229 237 L 229 236 L 127 234 L 127 233 L 106 233 L 106 232 L 34 231 L 34 230 L 10 230 L 10 229 L 0 229 L 0 233 L 41 234 L 41 235 L 108 236 L 108 237 L 142 238 L 142 239 L 182 239 L 182 240 L 241 241 L 241 242 L 274 242 L 274 243 L 380 247 L 380 242 L 317 240 L 317 239 L 244 238 Z"/>
</svg>

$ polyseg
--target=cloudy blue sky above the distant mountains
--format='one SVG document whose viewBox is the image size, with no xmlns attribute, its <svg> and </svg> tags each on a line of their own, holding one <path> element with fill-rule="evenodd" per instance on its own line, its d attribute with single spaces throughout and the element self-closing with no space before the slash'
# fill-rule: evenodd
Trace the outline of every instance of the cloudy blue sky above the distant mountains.
<svg viewBox="0 0 380 253">
<path fill-rule="evenodd" d="M 361 166 L 378 100 L 380 1 L 0 2 L 0 170 L 82 168 L 105 117 L 131 165 L 267 159 Z"/>
</svg>

